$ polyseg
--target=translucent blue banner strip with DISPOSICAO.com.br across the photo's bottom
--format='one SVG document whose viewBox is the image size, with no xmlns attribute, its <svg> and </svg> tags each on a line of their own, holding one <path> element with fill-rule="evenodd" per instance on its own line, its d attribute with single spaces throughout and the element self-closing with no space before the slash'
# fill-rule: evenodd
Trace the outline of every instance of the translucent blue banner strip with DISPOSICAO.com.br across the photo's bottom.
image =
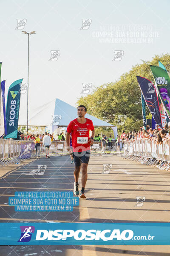
<svg viewBox="0 0 170 256">
<path fill-rule="evenodd" d="M 170 244 L 170 223 L 0 223 L 0 245 Z"/>
</svg>

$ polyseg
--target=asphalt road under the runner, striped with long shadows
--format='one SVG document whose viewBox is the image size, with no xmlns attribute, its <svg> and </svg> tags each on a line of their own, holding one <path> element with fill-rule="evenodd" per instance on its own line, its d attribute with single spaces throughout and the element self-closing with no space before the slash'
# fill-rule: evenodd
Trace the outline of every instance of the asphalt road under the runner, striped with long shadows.
<svg viewBox="0 0 170 256">
<path fill-rule="evenodd" d="M 88 199 L 81 199 L 73 212 L 15 212 L 8 206 L 8 197 L 16 191 L 73 191 L 73 171 L 70 156 L 53 156 L 8 172 L 0 178 L 0 222 L 169 222 L 170 173 L 116 155 L 91 156 Z M 17 245 L 0 246 L 1 255 L 169 256 L 170 246 Z"/>
</svg>

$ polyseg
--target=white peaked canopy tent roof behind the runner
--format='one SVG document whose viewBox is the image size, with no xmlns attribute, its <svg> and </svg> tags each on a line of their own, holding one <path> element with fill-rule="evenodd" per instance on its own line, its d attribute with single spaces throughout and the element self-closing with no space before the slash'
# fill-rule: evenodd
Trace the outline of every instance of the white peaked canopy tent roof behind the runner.
<svg viewBox="0 0 170 256">
<path fill-rule="evenodd" d="M 63 102 L 60 99 L 54 99 L 39 108 L 35 108 L 28 113 L 28 125 L 30 126 L 68 126 L 71 120 L 77 117 L 77 108 Z M 114 127 L 108 122 L 102 121 L 94 116 L 86 113 L 85 117 L 91 119 L 94 126 Z M 27 125 L 27 116 L 19 117 L 19 125 Z"/>
</svg>

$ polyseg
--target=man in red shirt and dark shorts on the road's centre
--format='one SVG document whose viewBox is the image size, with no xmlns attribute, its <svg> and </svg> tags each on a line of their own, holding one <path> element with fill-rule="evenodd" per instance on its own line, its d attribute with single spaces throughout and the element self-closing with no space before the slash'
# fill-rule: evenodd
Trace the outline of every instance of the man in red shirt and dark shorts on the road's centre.
<svg viewBox="0 0 170 256">
<path fill-rule="evenodd" d="M 73 154 L 74 154 L 74 195 L 79 195 L 79 172 L 82 168 L 82 189 L 80 198 L 86 198 L 85 196 L 85 184 L 88 178 L 87 168 L 90 158 L 90 146 L 94 143 L 94 125 L 93 122 L 85 118 L 87 108 L 84 105 L 80 105 L 77 108 L 78 118 L 72 120 L 67 128 L 66 133 L 66 146 L 69 153 L 70 148 L 70 134 L 72 138 Z M 89 137 L 89 130 L 92 131 L 91 138 Z"/>
</svg>

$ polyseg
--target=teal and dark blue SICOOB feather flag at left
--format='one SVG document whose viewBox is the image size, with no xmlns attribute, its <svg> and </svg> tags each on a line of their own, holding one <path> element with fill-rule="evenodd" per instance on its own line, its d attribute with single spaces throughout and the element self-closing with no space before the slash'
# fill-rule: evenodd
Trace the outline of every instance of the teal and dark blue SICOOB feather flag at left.
<svg viewBox="0 0 170 256">
<path fill-rule="evenodd" d="M 17 138 L 18 118 L 20 111 L 20 84 L 23 79 L 14 81 L 9 87 L 6 104 L 6 137 Z"/>
</svg>

